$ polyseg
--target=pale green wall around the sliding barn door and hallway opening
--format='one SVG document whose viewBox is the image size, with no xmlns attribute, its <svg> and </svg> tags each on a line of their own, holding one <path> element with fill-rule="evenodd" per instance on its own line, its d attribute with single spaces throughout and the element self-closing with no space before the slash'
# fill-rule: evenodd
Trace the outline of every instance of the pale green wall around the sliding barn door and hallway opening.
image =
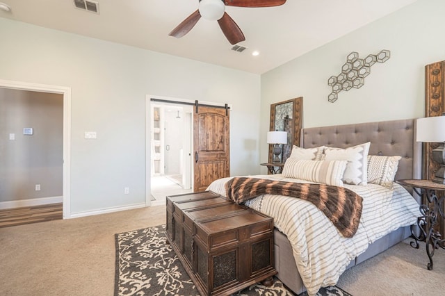
<svg viewBox="0 0 445 296">
<path fill-rule="evenodd" d="M 147 94 L 232 104 L 231 174 L 259 172 L 259 75 L 3 18 L 0 40 L 0 79 L 72 90 L 71 214 L 145 203 Z"/>
</svg>

